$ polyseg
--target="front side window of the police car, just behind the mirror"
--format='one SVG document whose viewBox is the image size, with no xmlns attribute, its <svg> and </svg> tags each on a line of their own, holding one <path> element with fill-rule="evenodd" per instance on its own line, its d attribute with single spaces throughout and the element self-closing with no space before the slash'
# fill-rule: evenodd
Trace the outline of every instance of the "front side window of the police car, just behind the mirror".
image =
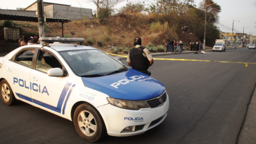
<svg viewBox="0 0 256 144">
<path fill-rule="evenodd" d="M 36 59 L 36 69 L 47 73 L 47 71 L 51 68 L 62 69 L 62 65 L 50 52 L 39 51 Z"/>
</svg>

